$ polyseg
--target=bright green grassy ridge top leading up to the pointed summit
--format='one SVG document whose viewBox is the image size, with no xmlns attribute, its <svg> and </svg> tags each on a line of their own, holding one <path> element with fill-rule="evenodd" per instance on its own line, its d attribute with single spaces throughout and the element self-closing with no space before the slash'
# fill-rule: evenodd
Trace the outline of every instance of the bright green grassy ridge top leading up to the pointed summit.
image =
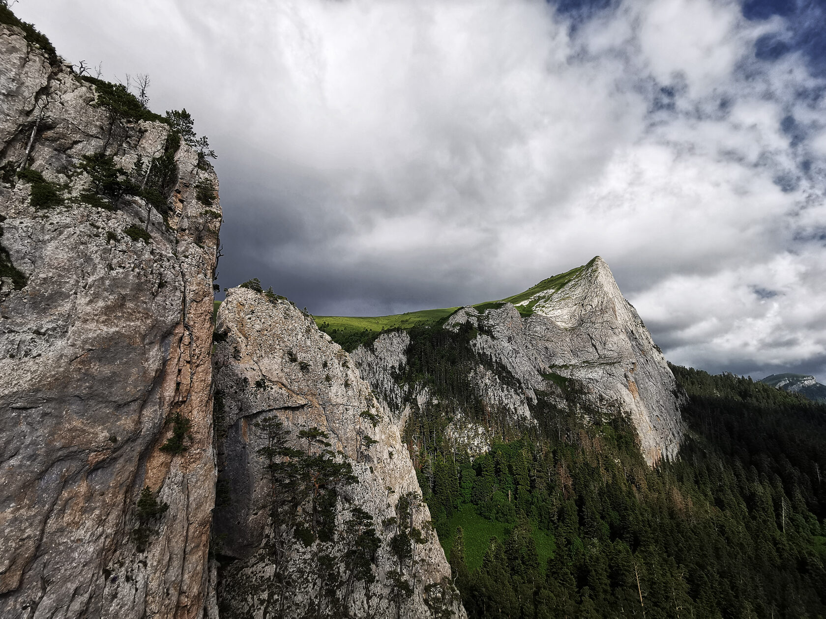
<svg viewBox="0 0 826 619">
<path fill-rule="evenodd" d="M 559 273 L 548 279 L 540 281 L 536 286 L 532 286 L 524 292 L 509 296 L 506 299 L 496 301 L 485 301 L 473 305 L 474 308 L 483 312 L 486 309 L 497 307 L 503 303 L 516 305 L 528 300 L 531 296 L 539 292 L 548 290 L 558 290 L 577 278 L 586 268 L 593 264 L 596 258 L 582 267 L 576 267 L 570 271 Z M 527 305 L 517 305 L 520 314 L 529 315 L 534 313 L 536 301 L 531 301 Z M 331 338 L 344 348 L 347 352 L 354 351 L 359 345 L 369 344 L 375 340 L 382 331 L 392 329 L 409 329 L 425 324 L 437 324 L 453 314 L 458 307 L 446 307 L 442 309 L 422 309 L 418 312 L 407 312 L 406 314 L 392 314 L 389 316 L 315 316 L 318 327 L 330 335 Z"/>
</svg>

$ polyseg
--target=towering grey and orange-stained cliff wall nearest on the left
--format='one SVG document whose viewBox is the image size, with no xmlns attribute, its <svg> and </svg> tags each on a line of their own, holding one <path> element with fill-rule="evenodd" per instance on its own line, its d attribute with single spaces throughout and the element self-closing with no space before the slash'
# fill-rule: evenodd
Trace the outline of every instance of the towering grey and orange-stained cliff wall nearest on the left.
<svg viewBox="0 0 826 619">
<path fill-rule="evenodd" d="M 140 184 L 168 134 L 0 26 L 2 617 L 202 615 L 221 208 L 205 213 L 196 184 L 217 179 L 170 152 L 162 216 L 135 196 L 102 207 L 83 171 L 111 157 Z M 176 415 L 181 449 L 161 451 Z M 146 486 L 154 515 L 136 505 Z"/>
</svg>

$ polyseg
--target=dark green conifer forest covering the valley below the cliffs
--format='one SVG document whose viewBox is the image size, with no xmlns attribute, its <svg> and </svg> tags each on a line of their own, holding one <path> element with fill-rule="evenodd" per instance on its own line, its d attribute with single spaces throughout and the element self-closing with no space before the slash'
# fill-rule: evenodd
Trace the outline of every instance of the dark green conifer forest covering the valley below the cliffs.
<svg viewBox="0 0 826 619">
<path fill-rule="evenodd" d="M 414 328 L 400 376 L 439 395 L 406 441 L 470 617 L 826 617 L 826 406 L 672 366 L 686 440 L 651 470 L 629 423 L 552 404 L 577 403 L 561 376 L 539 427 L 506 425 L 466 379 L 494 369 L 475 334 Z M 448 446 L 459 409 L 489 453 Z"/>
</svg>

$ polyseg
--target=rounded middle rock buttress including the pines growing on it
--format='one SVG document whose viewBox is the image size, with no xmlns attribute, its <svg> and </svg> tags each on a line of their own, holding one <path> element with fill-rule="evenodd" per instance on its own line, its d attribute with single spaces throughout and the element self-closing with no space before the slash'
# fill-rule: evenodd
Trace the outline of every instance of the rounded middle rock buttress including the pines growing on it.
<svg viewBox="0 0 826 619">
<path fill-rule="evenodd" d="M 463 617 L 406 446 L 349 355 L 287 300 L 244 288 L 216 340 L 221 617 Z"/>
</svg>

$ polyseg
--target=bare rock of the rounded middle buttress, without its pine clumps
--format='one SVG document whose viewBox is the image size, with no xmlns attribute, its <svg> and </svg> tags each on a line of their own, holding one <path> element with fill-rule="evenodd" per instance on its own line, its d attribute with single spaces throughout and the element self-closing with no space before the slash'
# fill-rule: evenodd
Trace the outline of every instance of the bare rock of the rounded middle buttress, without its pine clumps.
<svg viewBox="0 0 826 619">
<path fill-rule="evenodd" d="M 216 413 L 216 419 L 221 417 L 216 426 L 220 496 L 215 521 L 221 616 L 270 617 L 283 612 L 286 617 L 303 617 L 318 604 L 322 614 L 335 615 L 332 602 L 321 599 L 317 564 L 321 555 L 330 555 L 336 577 L 347 579 L 342 532 L 348 514 L 361 508 L 373 517 L 381 546 L 372 568 L 376 582 L 356 584 L 341 601 L 348 616 L 396 617 L 391 599 L 391 573 L 396 570 L 411 584 L 410 597 L 401 601 L 401 617 L 430 617 L 437 605 L 463 617 L 463 608 L 451 599 L 449 565 L 429 527 L 425 504 L 413 508 L 413 524 L 424 537 L 414 543 L 411 560 L 400 566 L 392 555 L 389 542 L 397 528 L 396 507 L 402 496 L 420 496 L 420 488 L 396 424 L 349 355 L 287 300 L 274 295 L 268 299 L 243 288 L 228 291 L 216 333 L 216 393 L 223 402 L 222 412 Z M 383 358 L 392 363 L 391 348 Z M 335 541 L 315 541 L 306 547 L 291 535 L 285 554 L 278 558 L 271 543 L 277 533 L 269 515 L 273 499 L 266 460 L 259 452 L 268 443 L 257 425 L 272 415 L 282 419 L 295 447 L 301 447 L 301 429 L 326 432 L 336 458 L 349 462 L 358 480 L 339 489 Z M 306 509 L 302 505 L 299 513 Z M 285 581 L 277 579 L 279 565 L 286 566 L 281 577 Z"/>
</svg>

